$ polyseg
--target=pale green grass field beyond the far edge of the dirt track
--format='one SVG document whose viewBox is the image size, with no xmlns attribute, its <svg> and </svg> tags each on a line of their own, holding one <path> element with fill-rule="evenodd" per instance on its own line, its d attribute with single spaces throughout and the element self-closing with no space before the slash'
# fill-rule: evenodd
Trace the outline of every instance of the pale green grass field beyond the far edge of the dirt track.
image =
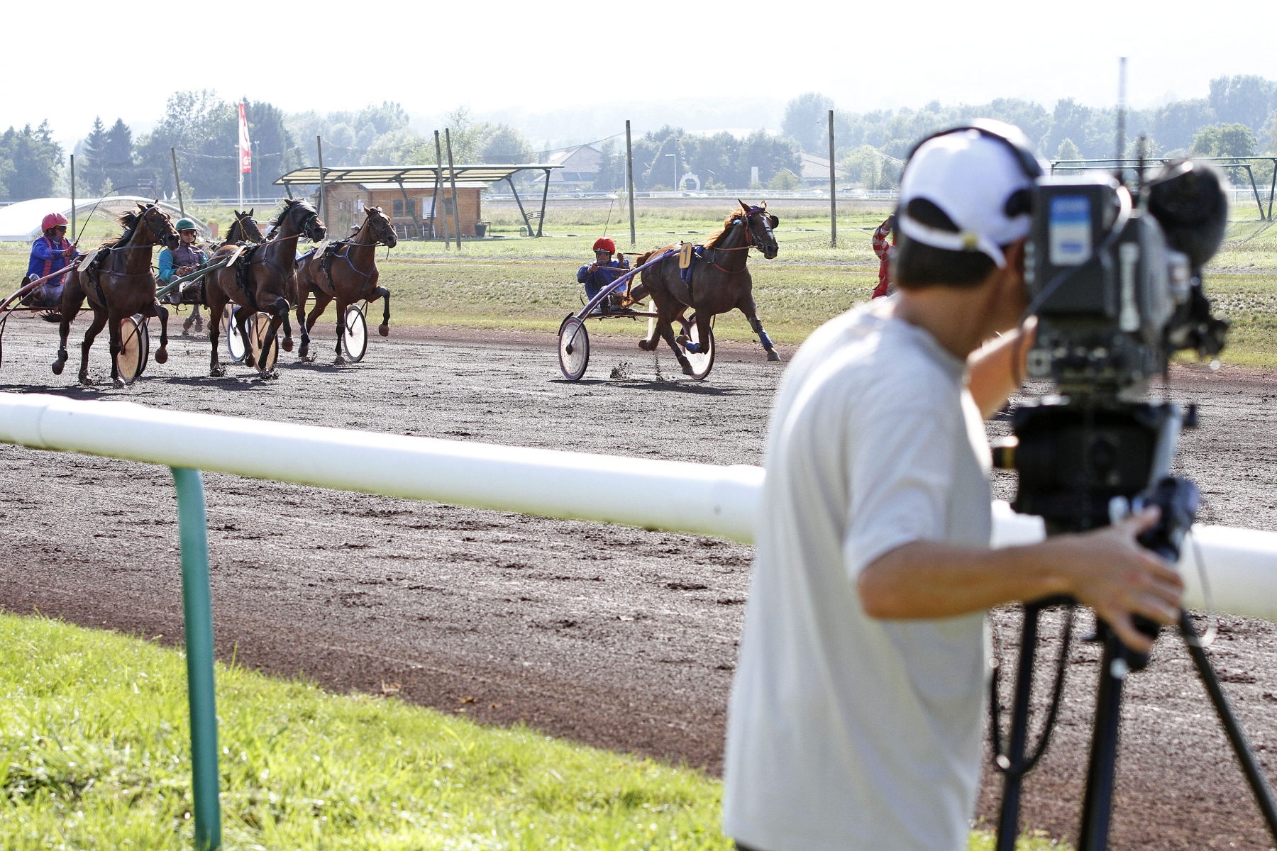
<svg viewBox="0 0 1277 851">
<path fill-rule="evenodd" d="M 644 205 L 637 216 L 635 250 L 679 240 L 699 241 L 722 226 L 730 204 L 697 207 Z M 229 208 L 198 209 L 225 227 Z M 801 343 L 826 319 L 870 297 L 877 283 L 877 258 L 870 235 L 885 217 L 885 205 L 847 204 L 839 214 L 839 245 L 829 245 L 829 209 L 812 202 L 776 202 L 780 255 L 755 255 L 751 272 L 759 315 L 774 339 Z M 553 333 L 570 311 L 581 305 L 576 269 L 591 259 L 590 246 L 609 223 L 618 248 L 628 245 L 628 222 L 618 227 L 623 211 L 585 204 L 552 205 L 547 237 L 471 240 L 458 251 L 442 242 L 404 241 L 378 253 L 382 283 L 391 290 L 392 324 L 452 325 Z M 263 218 L 263 211 L 258 211 Z M 517 212 L 488 213 L 497 233 L 517 232 Z M 1207 270 L 1207 291 L 1234 322 L 1226 361 L 1277 366 L 1277 228 L 1248 221 L 1250 209 L 1235 213 L 1228 241 Z M 619 232 L 623 232 L 621 236 Z M 84 245 L 106 236 L 110 223 L 94 218 Z M 22 277 L 27 246 L 0 245 L 0 278 L 14 287 Z M 595 329 L 591 329 L 594 333 Z M 638 338 L 645 324 L 613 322 L 598 330 Z M 719 318 L 722 339 L 752 341 L 739 313 Z"/>
</svg>

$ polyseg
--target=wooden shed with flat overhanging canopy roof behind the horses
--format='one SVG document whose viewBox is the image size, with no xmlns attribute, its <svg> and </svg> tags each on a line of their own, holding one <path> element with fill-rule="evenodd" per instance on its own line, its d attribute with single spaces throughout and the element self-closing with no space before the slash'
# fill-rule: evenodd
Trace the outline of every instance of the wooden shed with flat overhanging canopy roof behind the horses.
<svg viewBox="0 0 1277 851">
<path fill-rule="evenodd" d="M 518 204 L 529 236 L 541 235 L 545 221 L 545 199 L 550 175 L 562 168 L 558 163 L 522 163 L 513 166 L 308 166 L 278 177 L 292 198 L 292 189 L 314 193 L 319 214 L 333 239 L 350 232 L 351 225 L 363 222 L 365 207 L 381 207 L 389 216 L 400 237 L 406 239 L 474 239 L 483 236 L 476 227 L 483 221 L 483 193 L 490 184 L 504 180 Z M 515 186 L 513 176 L 522 171 L 540 171 L 541 212 L 529 214 Z M 452 203 L 456 188 L 456 207 Z M 533 225 L 533 218 L 538 223 Z M 460 231 L 460 232 L 458 232 Z M 460 242 L 458 242 L 460 244 Z"/>
</svg>

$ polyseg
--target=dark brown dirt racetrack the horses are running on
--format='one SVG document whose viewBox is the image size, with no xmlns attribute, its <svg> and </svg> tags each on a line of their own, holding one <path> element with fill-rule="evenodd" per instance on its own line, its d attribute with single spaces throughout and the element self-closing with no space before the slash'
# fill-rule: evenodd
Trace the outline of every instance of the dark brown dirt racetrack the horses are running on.
<svg viewBox="0 0 1277 851">
<path fill-rule="evenodd" d="M 83 322 L 73 339 L 82 334 Z M 317 334 L 323 357 L 328 339 Z M 724 346 L 707 381 L 676 380 L 667 352 L 658 366 L 632 339 L 595 338 L 586 379 L 570 384 L 548 336 L 396 327 L 354 366 L 285 353 L 275 381 L 241 366 L 204 378 L 207 338 L 175 338 L 166 365 L 116 392 L 75 385 L 74 364 L 55 378 L 45 323 L 14 320 L 4 342 L 6 392 L 710 463 L 761 461 L 783 370 L 757 347 Z M 105 351 L 103 337 L 98 379 Z M 1175 385 L 1200 403 L 1203 427 L 1185 434 L 1180 458 L 1205 495 L 1203 519 L 1277 528 L 1277 385 L 1227 367 L 1176 370 Z M 0 466 L 0 606 L 180 642 L 166 470 L 10 445 Z M 720 769 L 750 547 L 223 475 L 206 484 L 222 658 Z M 1013 487 L 1000 475 L 999 495 Z M 994 624 L 1014 649 L 1014 614 Z M 1056 647 L 1047 642 L 1047 660 Z M 1209 651 L 1271 777 L 1274 647 L 1273 624 L 1226 618 Z M 1027 783 L 1029 827 L 1052 836 L 1075 831 L 1097 660 L 1096 647 L 1074 646 L 1060 725 Z M 1122 736 L 1115 847 L 1272 846 L 1174 635 L 1128 680 Z M 986 823 L 999 788 L 986 776 Z"/>
</svg>

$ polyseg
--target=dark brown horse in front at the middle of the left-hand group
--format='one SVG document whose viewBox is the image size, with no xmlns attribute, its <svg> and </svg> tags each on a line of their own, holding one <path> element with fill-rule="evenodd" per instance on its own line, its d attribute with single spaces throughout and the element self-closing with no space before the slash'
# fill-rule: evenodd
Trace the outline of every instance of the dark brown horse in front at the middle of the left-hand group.
<svg viewBox="0 0 1277 851">
<path fill-rule="evenodd" d="M 212 378 L 226 375 L 217 360 L 217 337 L 222 322 L 222 311 L 229 302 L 246 307 L 235 311 L 235 323 L 241 339 L 248 339 L 246 323 L 249 316 L 257 313 L 271 315 L 271 324 L 266 330 L 266 339 L 273 339 L 280 325 L 283 324 L 286 338 L 283 350 L 292 351 L 292 329 L 289 324 L 289 306 L 291 296 L 296 291 L 296 240 L 301 236 L 318 242 L 324 237 L 327 228 L 319 219 L 315 208 L 299 198 L 289 198 L 283 202 L 278 216 L 271 222 L 272 239 L 259 245 L 250 245 L 240 254 L 232 265 L 222 267 L 212 272 L 206 278 L 206 296 L 208 302 L 209 325 L 208 337 L 212 342 L 212 355 L 209 356 L 208 374 Z M 239 250 L 235 245 L 223 245 L 213 253 L 211 260 L 229 258 Z M 230 333 L 230 329 L 227 329 Z M 258 366 L 253 357 L 252 347 L 244 355 L 244 364 Z M 266 371 L 258 367 L 262 375 Z"/>
</svg>

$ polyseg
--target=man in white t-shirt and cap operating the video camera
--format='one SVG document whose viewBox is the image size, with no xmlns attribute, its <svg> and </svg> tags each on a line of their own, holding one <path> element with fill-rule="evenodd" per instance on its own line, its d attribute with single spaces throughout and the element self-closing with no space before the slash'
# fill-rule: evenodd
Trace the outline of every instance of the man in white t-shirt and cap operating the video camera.
<svg viewBox="0 0 1277 851">
<path fill-rule="evenodd" d="M 816 330 L 773 407 L 728 716 L 724 832 L 742 848 L 965 848 L 986 611 L 1069 595 L 1140 651 L 1133 615 L 1176 619 L 1179 575 L 1135 542 L 1156 509 L 990 549 L 982 418 L 1032 342 L 1033 154 L 1016 128 L 981 126 L 916 149 L 899 292 Z"/>
</svg>

